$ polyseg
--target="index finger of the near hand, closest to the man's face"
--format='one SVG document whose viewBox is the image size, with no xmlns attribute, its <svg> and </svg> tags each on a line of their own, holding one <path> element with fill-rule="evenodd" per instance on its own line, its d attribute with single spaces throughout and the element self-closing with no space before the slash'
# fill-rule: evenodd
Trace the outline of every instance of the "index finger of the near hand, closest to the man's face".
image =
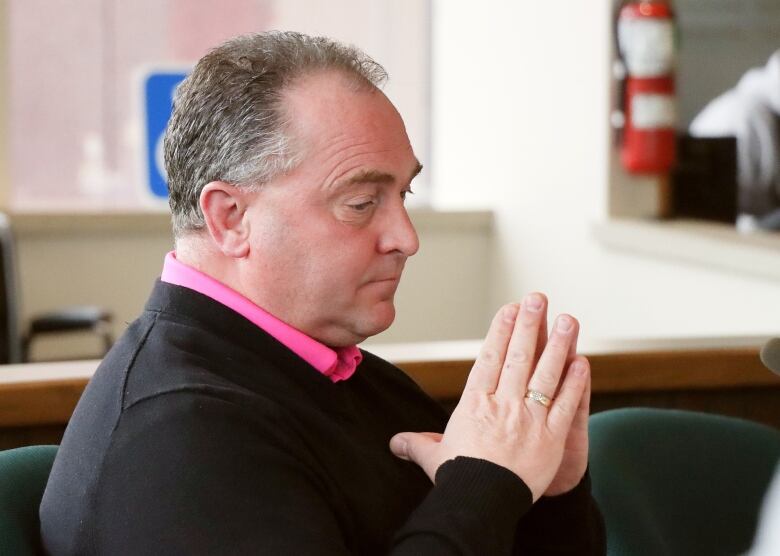
<svg viewBox="0 0 780 556">
<path fill-rule="evenodd" d="M 496 391 L 517 313 L 517 303 L 510 303 L 501 307 L 493 317 L 485 342 L 466 380 L 466 390 L 489 394 Z"/>
</svg>

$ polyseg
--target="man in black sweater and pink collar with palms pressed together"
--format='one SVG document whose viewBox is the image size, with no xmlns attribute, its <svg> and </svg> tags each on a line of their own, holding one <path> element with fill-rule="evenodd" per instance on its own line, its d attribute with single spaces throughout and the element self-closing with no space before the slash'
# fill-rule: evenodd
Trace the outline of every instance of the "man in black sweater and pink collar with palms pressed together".
<svg viewBox="0 0 780 556">
<path fill-rule="evenodd" d="M 49 553 L 603 551 L 573 318 L 547 341 L 543 296 L 499 311 L 449 422 L 355 347 L 390 326 L 418 248 L 421 166 L 383 78 L 356 49 L 269 33 L 182 84 L 176 251 L 65 433 Z"/>
</svg>

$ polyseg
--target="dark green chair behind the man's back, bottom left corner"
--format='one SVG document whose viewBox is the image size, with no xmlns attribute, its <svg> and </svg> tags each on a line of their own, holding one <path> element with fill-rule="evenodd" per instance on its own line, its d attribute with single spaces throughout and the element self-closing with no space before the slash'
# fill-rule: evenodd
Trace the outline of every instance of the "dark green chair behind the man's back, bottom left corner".
<svg viewBox="0 0 780 556">
<path fill-rule="evenodd" d="M 0 452 L 0 554 L 41 551 L 38 506 L 57 446 L 27 446 Z"/>
</svg>

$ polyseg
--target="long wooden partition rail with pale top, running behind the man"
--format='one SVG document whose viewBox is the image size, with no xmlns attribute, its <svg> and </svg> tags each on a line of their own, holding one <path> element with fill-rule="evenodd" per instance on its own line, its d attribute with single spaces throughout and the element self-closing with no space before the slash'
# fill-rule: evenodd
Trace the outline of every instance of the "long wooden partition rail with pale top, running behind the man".
<svg viewBox="0 0 780 556">
<path fill-rule="evenodd" d="M 780 377 L 764 368 L 767 338 L 589 342 L 592 411 L 678 407 L 780 427 Z M 377 344 L 367 349 L 407 372 L 452 407 L 481 341 Z M 98 361 L 0 365 L 0 449 L 57 443 Z"/>
</svg>

